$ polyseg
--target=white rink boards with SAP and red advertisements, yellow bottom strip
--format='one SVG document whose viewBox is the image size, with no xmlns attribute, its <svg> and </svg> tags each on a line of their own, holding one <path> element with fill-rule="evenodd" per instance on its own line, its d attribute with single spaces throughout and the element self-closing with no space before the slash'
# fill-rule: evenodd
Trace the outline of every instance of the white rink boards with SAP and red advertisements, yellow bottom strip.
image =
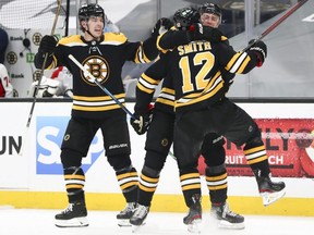
<svg viewBox="0 0 314 235">
<path fill-rule="evenodd" d="M 128 103 L 133 110 L 134 103 Z M 67 206 L 59 146 L 71 114 L 70 101 L 36 103 L 29 129 L 26 131 L 32 102 L 0 102 L 0 207 L 59 209 Z M 228 201 L 232 210 L 246 214 L 314 215 L 313 140 L 309 136 L 295 141 L 299 133 L 314 129 L 313 103 L 239 103 L 261 122 L 274 181 L 285 181 L 286 197 L 269 207 L 262 206 L 254 177 L 247 173 L 241 151 L 227 147 Z M 312 119 L 313 118 L 313 119 Z M 279 133 L 291 135 L 280 136 Z M 266 133 L 266 134 L 265 134 Z M 276 134 L 277 133 L 277 134 Z M 130 126 L 134 166 L 142 169 L 145 136 Z M 299 135 L 298 134 L 298 135 Z M 304 140 L 304 141 L 303 141 Z M 25 144 L 22 154 L 19 150 Z M 304 145 L 304 146 L 300 146 Z M 98 132 L 84 159 L 86 201 L 89 209 L 121 210 L 124 199 L 116 174 L 104 157 Z M 242 159 L 242 160 L 241 160 Z M 240 162 L 241 160 L 241 162 Z M 202 170 L 202 169 L 201 169 Z M 202 177 L 203 206 L 209 209 L 208 190 Z M 153 200 L 152 211 L 184 212 L 177 162 L 167 159 Z"/>
</svg>

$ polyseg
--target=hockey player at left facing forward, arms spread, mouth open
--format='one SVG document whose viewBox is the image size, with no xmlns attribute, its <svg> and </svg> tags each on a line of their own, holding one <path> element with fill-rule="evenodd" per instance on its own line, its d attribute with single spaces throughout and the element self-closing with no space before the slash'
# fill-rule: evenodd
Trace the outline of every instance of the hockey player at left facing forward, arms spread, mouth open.
<svg viewBox="0 0 314 235">
<path fill-rule="evenodd" d="M 117 180 L 126 200 L 126 207 L 118 215 L 118 224 L 129 224 L 137 195 L 137 172 L 130 153 L 130 135 L 126 114 L 109 96 L 96 86 L 92 77 L 82 72 L 70 59 L 72 54 L 116 98 L 124 103 L 125 92 L 121 78 L 125 61 L 149 62 L 158 55 L 156 39 L 164 26 L 159 20 L 145 41 L 130 42 L 122 33 L 105 33 L 104 9 L 94 3 L 78 10 L 83 35 L 73 35 L 57 42 L 53 36 L 41 39 L 35 57 L 35 65 L 41 69 L 67 66 L 73 74 L 73 106 L 63 143 L 61 162 L 64 171 L 69 207 L 56 215 L 56 225 L 87 226 L 85 203 L 85 174 L 81 168 L 89 145 L 98 129 L 104 136 L 105 154 L 116 171 Z M 129 224 L 130 225 L 130 224 Z"/>
</svg>

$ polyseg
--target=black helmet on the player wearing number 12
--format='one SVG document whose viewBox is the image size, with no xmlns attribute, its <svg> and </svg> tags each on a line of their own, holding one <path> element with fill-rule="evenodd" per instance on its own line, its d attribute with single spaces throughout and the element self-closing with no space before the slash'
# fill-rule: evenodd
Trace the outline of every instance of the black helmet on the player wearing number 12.
<svg viewBox="0 0 314 235">
<path fill-rule="evenodd" d="M 177 28 L 185 30 L 190 25 L 200 23 L 200 13 L 193 8 L 183 8 L 174 13 L 173 21 Z"/>
</svg>

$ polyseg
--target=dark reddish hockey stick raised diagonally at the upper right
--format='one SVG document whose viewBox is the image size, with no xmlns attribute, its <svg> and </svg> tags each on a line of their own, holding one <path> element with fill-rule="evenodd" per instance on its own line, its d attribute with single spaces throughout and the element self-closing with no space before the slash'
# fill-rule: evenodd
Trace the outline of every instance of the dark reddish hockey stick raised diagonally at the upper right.
<svg viewBox="0 0 314 235">
<path fill-rule="evenodd" d="M 280 25 L 285 20 L 287 20 L 290 15 L 292 15 L 298 9 L 300 9 L 307 0 L 301 0 L 295 3 L 289 11 L 287 11 L 281 17 L 279 17 L 274 24 L 271 24 L 265 32 L 262 33 L 257 38 L 254 39 L 251 44 L 249 44 L 242 51 L 249 50 L 256 41 L 262 40 L 266 37 L 270 32 L 273 32 L 278 25 Z"/>
</svg>

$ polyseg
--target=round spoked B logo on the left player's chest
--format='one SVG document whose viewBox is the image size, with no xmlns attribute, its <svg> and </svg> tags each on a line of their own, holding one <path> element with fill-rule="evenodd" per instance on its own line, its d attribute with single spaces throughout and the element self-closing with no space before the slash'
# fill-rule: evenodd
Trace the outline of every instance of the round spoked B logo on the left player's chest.
<svg viewBox="0 0 314 235">
<path fill-rule="evenodd" d="M 87 58 L 83 62 L 83 66 L 100 83 L 105 83 L 109 77 L 109 66 L 107 61 L 98 55 L 93 55 Z M 83 79 L 89 84 L 96 86 L 94 83 L 94 77 L 90 77 L 87 73 L 84 71 L 81 71 L 81 76 Z"/>
</svg>

